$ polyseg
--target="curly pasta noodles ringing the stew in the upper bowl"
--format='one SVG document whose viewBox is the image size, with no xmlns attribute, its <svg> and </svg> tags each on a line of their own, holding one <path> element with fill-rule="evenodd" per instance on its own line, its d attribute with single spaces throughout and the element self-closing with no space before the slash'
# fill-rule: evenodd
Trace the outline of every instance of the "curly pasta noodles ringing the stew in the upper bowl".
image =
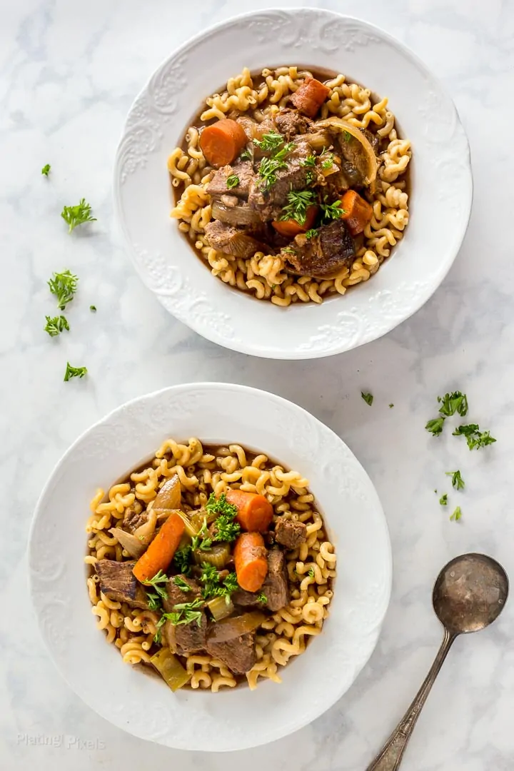
<svg viewBox="0 0 514 771">
<path fill-rule="evenodd" d="M 206 99 L 206 109 L 200 120 L 220 119 L 237 111 L 262 122 L 281 106 L 286 106 L 291 94 L 311 74 L 307 70 L 298 71 L 296 66 L 283 66 L 275 70 L 264 69 L 260 76 L 251 76 L 245 67 L 243 72 L 227 81 L 223 93 Z M 179 229 L 188 235 L 213 275 L 258 300 L 270 300 L 282 308 L 298 302 L 320 304 L 324 298 L 344 295 L 349 287 L 368 281 L 389 257 L 391 247 L 401 240 L 408 224 L 408 194 L 402 177 L 412 151 L 410 142 L 398 137 L 388 99 L 374 101 L 369 89 L 346 82 L 343 74 L 328 80 L 327 86 L 330 93 L 321 106 L 321 119 L 328 116 L 344 118 L 358 128 L 375 130 L 381 140 L 387 142 L 378 159 L 375 192 L 369 194 L 375 217 L 365 229 L 364 244 L 351 270 L 344 268 L 334 278 L 324 281 L 306 276 L 297 278 L 287 273 L 284 259 L 274 254 L 256 252 L 252 258 L 236 259 L 212 249 L 205 237 L 205 228 L 212 219 L 206 188 L 213 170 L 203 157 L 196 126 L 187 130 L 184 148 L 176 147 L 168 158 L 171 183 L 177 190 L 183 188 L 171 210 L 171 217 L 179 220 Z M 382 207 L 378 216 L 376 204 Z"/>
</svg>

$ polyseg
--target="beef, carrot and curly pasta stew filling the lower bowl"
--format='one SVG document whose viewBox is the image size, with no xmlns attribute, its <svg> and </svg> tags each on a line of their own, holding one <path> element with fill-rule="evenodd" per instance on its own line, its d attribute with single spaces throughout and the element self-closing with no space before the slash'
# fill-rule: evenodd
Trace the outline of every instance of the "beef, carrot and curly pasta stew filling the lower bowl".
<svg viewBox="0 0 514 771">
<path fill-rule="evenodd" d="M 168 439 L 91 510 L 97 625 L 173 691 L 281 682 L 321 633 L 336 556 L 300 473 L 237 444 Z"/>
</svg>

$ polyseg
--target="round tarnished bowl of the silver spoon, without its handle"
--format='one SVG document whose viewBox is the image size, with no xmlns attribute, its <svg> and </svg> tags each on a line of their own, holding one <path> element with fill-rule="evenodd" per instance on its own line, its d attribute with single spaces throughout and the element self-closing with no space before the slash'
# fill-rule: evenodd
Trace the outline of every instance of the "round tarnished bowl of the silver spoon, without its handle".
<svg viewBox="0 0 514 771">
<path fill-rule="evenodd" d="M 438 574 L 432 603 L 451 635 L 467 635 L 496 621 L 508 596 L 509 578 L 496 560 L 462 554 Z"/>
</svg>

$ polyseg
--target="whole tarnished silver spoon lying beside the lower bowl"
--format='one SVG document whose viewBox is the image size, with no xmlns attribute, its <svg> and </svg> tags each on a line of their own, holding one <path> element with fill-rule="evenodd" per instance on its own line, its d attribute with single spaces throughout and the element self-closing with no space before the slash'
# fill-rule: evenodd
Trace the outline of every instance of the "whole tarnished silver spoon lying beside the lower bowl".
<svg viewBox="0 0 514 771">
<path fill-rule="evenodd" d="M 367 771 L 395 771 L 435 678 L 458 635 L 480 631 L 496 621 L 509 596 L 502 566 L 485 554 L 462 554 L 438 574 L 432 593 L 435 614 L 445 628 L 441 648 L 418 695 Z"/>
</svg>

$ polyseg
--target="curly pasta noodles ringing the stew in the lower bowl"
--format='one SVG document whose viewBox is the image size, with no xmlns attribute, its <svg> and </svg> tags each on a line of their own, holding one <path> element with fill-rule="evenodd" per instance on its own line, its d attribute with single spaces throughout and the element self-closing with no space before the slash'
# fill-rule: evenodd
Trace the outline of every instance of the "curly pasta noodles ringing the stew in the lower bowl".
<svg viewBox="0 0 514 771">
<path fill-rule="evenodd" d="M 260 258 L 256 255 L 254 260 Z M 210 493 L 219 496 L 231 488 L 240 488 L 267 497 L 274 507 L 274 521 L 281 517 L 306 525 L 306 542 L 286 552 L 291 599 L 285 608 L 268 615 L 257 629 L 257 662 L 246 675 L 250 689 L 257 687 L 260 678 L 281 682 L 280 668 L 303 653 L 308 640 L 320 634 L 328 616 L 335 577 L 334 546 L 315 509 L 308 480 L 301 473 L 270 462 L 264 453 L 249 453 L 239 444 L 207 448 L 195 437 L 183 443 L 166 439 L 153 459 L 131 473 L 126 481 L 114 484 L 107 493 L 96 490 L 86 524 L 89 537 L 86 564 L 93 567 L 104 558 L 116 561 L 129 558 L 116 537 L 109 533 L 127 513 L 139 514 L 146 510 L 146 522 L 135 534 L 153 535 L 157 524 L 153 499 L 174 474 L 180 478 L 186 511 L 203 506 Z M 148 664 L 157 649 L 153 636 L 159 614 L 110 600 L 99 591 L 98 584 L 96 574 L 87 578 L 97 628 L 105 631 L 106 640 L 119 648 L 123 662 Z M 210 655 L 191 654 L 184 658 L 184 666 L 193 690 L 217 692 L 234 688 L 239 682 L 223 662 Z"/>
</svg>

